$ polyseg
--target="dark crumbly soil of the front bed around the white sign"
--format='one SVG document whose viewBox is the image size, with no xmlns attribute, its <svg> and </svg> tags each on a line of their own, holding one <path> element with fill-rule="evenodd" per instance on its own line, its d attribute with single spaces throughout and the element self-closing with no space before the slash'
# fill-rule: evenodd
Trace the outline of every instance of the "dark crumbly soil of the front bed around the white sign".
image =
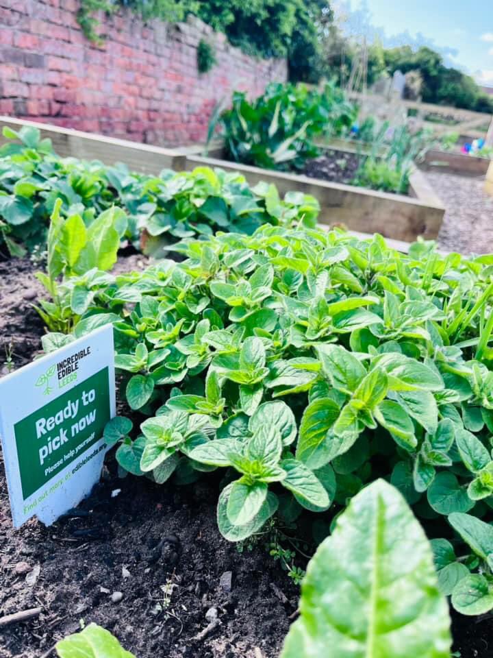
<svg viewBox="0 0 493 658">
<path fill-rule="evenodd" d="M 142 265 L 131 256 L 118 269 Z M 10 367 L 31 361 L 40 345 L 34 269 L 29 260 L 0 263 Z M 54 658 L 55 642 L 81 620 L 110 629 L 137 658 L 277 658 L 298 589 L 264 548 L 240 553 L 221 537 L 217 498 L 214 478 L 188 487 L 119 479 L 110 452 L 76 510 L 48 528 L 31 519 L 14 531 L 0 467 L 0 617 L 42 608 L 2 629 L 0 658 Z M 493 657 L 492 616 L 453 613 L 453 635 L 461 658 Z"/>
</svg>

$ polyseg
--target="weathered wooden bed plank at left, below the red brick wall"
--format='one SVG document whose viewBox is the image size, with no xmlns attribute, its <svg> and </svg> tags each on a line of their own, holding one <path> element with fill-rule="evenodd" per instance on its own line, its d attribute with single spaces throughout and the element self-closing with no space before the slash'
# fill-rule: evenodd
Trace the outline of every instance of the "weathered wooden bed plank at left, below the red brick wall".
<svg viewBox="0 0 493 658">
<path fill-rule="evenodd" d="M 56 125 L 13 119 L 0 116 L 0 125 L 20 130 L 23 125 L 38 128 L 42 138 L 50 138 L 55 153 L 62 158 L 101 160 L 104 164 L 125 162 L 132 171 L 158 174 L 162 169 L 185 168 L 186 155 L 177 149 L 164 149 L 148 144 L 138 144 L 125 139 L 114 139 L 103 135 L 61 128 Z M 6 140 L 0 133 L 0 144 Z"/>
</svg>

